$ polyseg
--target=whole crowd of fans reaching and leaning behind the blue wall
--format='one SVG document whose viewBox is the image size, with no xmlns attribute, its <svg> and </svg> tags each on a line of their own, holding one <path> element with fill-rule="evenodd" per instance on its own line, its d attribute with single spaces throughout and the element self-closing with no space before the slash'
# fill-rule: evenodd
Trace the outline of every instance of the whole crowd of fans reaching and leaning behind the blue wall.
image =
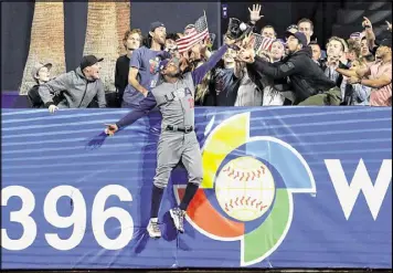
<svg viewBox="0 0 393 273">
<path fill-rule="evenodd" d="M 246 25 L 255 32 L 255 24 L 262 18 L 261 6 L 248 10 Z M 391 32 L 391 23 L 386 24 Z M 285 36 L 279 39 L 273 25 L 265 25 L 259 34 L 272 43 L 268 49 L 258 51 L 252 34 L 238 35 L 222 61 L 198 85 L 195 105 L 391 106 L 391 35 L 376 41 L 372 22 L 364 18 L 359 25 L 361 32 L 349 38 L 331 36 L 323 52 L 322 46 L 311 40 L 314 28 L 309 19 L 301 19 L 289 25 Z M 64 107 L 136 107 L 159 84 L 162 60 L 185 60 L 188 71 L 209 60 L 213 52 L 209 38 L 188 52 L 179 53 L 177 40 L 194 30 L 195 25 L 189 24 L 183 33 L 167 34 L 163 23 L 153 22 L 146 38 L 138 29 L 127 31 L 124 36 L 127 54 L 116 62 L 116 98 L 110 103 L 99 80 L 103 59 L 84 56 L 75 71 L 52 80 L 52 64 L 39 63 L 32 71 L 36 85 L 28 93 L 31 106 L 47 107 L 51 113 Z M 224 39 L 230 38 L 229 30 Z"/>
</svg>

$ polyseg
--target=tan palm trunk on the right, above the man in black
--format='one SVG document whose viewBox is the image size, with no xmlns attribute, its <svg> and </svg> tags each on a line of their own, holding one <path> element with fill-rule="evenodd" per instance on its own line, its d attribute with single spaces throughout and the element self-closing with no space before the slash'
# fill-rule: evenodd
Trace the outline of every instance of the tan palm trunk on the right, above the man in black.
<svg viewBox="0 0 393 273">
<path fill-rule="evenodd" d="M 121 31 L 129 22 L 126 2 L 91 0 L 87 11 L 87 28 L 84 55 L 94 54 L 104 57 L 100 63 L 100 77 L 106 92 L 115 91 L 115 66 L 119 55 Z M 123 18 L 124 17 L 124 18 Z M 121 39 L 120 39 L 121 40 Z"/>
</svg>

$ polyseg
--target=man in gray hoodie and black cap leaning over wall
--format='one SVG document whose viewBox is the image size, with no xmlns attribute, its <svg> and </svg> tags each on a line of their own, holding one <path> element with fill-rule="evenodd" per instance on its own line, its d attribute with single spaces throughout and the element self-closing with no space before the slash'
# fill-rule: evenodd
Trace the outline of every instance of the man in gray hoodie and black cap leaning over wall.
<svg viewBox="0 0 393 273">
<path fill-rule="evenodd" d="M 95 97 L 100 108 L 106 107 L 104 85 L 99 78 L 99 62 L 103 60 L 94 55 L 84 56 L 75 71 L 40 85 L 39 94 L 50 113 L 57 108 L 86 108 Z M 65 97 L 57 106 L 52 101 L 55 93 Z"/>
</svg>

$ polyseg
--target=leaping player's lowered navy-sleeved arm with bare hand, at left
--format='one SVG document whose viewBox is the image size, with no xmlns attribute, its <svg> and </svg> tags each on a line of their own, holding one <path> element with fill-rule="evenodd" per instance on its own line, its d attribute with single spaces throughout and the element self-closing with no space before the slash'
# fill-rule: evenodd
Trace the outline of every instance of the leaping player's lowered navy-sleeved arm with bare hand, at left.
<svg viewBox="0 0 393 273">
<path fill-rule="evenodd" d="M 156 98 L 151 92 L 149 92 L 148 95 L 139 103 L 139 105 L 126 116 L 124 116 L 120 120 L 118 120 L 116 124 L 107 124 L 105 133 L 109 136 L 113 136 L 117 130 L 131 125 L 142 116 L 147 115 L 156 107 Z"/>
</svg>

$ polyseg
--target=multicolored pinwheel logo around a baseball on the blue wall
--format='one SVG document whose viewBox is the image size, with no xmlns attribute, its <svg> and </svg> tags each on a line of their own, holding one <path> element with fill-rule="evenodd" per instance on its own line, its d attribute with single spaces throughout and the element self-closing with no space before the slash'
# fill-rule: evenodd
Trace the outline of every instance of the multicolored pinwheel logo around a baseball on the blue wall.
<svg viewBox="0 0 393 273">
<path fill-rule="evenodd" d="M 302 156 L 280 139 L 249 137 L 249 116 L 232 116 L 209 134 L 203 181 L 187 214 L 213 240 L 241 241 L 242 266 L 263 261 L 282 244 L 293 220 L 294 193 L 316 193 Z M 174 186 L 178 202 L 184 189 Z"/>
</svg>

